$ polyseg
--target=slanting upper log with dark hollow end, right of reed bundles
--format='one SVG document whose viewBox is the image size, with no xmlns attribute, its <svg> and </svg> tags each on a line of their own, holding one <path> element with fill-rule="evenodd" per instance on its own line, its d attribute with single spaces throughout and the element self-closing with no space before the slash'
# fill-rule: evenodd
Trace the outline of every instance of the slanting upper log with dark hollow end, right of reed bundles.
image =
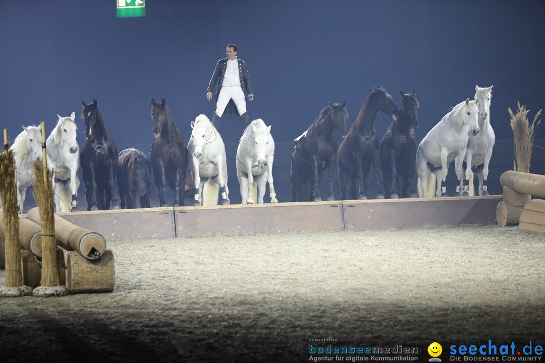
<svg viewBox="0 0 545 363">
<path fill-rule="evenodd" d="M 26 218 L 40 223 L 38 208 L 28 211 Z M 106 239 L 99 233 L 89 231 L 67 220 L 55 216 L 57 244 L 68 251 L 77 251 L 87 260 L 100 259 L 106 251 Z"/>
</svg>

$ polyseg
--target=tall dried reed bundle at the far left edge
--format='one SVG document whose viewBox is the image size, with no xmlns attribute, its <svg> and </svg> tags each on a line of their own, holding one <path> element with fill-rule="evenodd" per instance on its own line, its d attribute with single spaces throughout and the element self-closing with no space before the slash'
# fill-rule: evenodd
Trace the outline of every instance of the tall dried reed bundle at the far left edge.
<svg viewBox="0 0 545 363">
<path fill-rule="evenodd" d="M 19 207 L 15 184 L 15 159 L 13 151 L 5 147 L 0 152 L 0 196 L 2 198 L 5 241 L 5 287 L 23 285 L 21 272 L 21 246 L 19 244 Z"/>
</svg>

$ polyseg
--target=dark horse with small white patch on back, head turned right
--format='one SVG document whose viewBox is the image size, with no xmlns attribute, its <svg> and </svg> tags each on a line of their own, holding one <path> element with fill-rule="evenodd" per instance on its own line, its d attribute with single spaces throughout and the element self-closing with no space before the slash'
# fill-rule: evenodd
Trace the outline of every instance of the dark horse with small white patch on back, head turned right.
<svg viewBox="0 0 545 363">
<path fill-rule="evenodd" d="M 290 169 L 292 201 L 309 200 L 309 194 L 302 192 L 306 189 L 306 182 L 311 184 L 310 200 L 322 200 L 318 187 L 322 180 L 322 172 L 327 168 L 329 168 L 328 200 L 334 200 L 333 166 L 337 160 L 337 138 L 333 131 L 336 128 L 341 137 L 345 137 L 347 118 L 346 101 L 342 104 L 330 103 L 308 130 L 295 139 L 297 144 L 293 149 Z"/>
</svg>

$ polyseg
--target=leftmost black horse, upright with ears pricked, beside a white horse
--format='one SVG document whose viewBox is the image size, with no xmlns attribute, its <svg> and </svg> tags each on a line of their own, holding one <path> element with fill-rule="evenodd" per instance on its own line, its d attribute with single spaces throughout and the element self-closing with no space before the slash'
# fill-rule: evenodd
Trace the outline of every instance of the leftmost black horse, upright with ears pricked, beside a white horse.
<svg viewBox="0 0 545 363">
<path fill-rule="evenodd" d="M 87 199 L 87 210 L 119 209 L 116 194 L 117 149 L 106 130 L 96 100 L 83 104 L 85 144 L 80 160 Z"/>
</svg>

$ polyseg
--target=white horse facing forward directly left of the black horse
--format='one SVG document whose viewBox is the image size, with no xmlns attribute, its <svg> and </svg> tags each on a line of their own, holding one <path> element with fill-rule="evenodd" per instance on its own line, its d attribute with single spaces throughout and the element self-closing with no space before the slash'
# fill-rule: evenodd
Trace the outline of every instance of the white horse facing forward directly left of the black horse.
<svg viewBox="0 0 545 363">
<path fill-rule="evenodd" d="M 80 187 L 80 147 L 77 144 L 76 113 L 59 118 L 47 138 L 47 168 L 53 170 L 55 211 L 70 212 L 77 207 Z M 69 185 L 66 183 L 69 182 Z"/>
</svg>

